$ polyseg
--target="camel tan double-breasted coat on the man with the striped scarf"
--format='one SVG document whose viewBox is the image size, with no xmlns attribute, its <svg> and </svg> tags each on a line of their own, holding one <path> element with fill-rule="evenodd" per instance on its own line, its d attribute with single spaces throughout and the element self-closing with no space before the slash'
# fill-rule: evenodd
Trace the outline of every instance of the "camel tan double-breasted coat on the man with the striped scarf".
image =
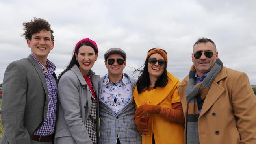
<svg viewBox="0 0 256 144">
<path fill-rule="evenodd" d="M 185 120 L 187 85 L 188 76 L 178 86 Z M 223 66 L 204 100 L 198 134 L 200 144 L 256 144 L 256 97 L 245 73 Z"/>
</svg>

